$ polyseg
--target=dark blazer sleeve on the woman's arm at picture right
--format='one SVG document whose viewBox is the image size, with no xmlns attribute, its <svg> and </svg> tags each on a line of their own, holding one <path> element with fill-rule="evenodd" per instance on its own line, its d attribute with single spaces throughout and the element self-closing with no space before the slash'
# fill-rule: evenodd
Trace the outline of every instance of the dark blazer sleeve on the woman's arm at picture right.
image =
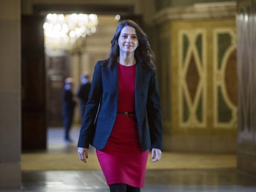
<svg viewBox="0 0 256 192">
<path fill-rule="evenodd" d="M 152 71 L 148 88 L 147 117 L 150 128 L 151 148 L 163 150 L 163 126 L 158 84 L 155 71 Z"/>
</svg>

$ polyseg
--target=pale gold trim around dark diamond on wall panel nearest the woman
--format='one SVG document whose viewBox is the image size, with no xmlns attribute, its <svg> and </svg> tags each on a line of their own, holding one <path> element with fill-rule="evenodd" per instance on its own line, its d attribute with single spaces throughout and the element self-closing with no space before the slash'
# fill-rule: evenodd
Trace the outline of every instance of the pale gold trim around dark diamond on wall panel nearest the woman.
<svg viewBox="0 0 256 192">
<path fill-rule="evenodd" d="M 179 101 L 179 127 L 182 128 L 194 128 L 206 127 L 206 106 L 207 106 L 207 90 L 206 90 L 206 77 L 207 77 L 207 70 L 206 70 L 206 31 L 202 28 L 196 28 L 191 30 L 179 30 L 179 44 L 182 45 L 182 35 L 186 35 L 189 38 L 189 48 L 187 50 L 185 61 L 182 62 L 182 55 L 183 55 L 183 47 L 180 46 L 179 48 L 179 91 L 178 91 L 178 98 L 182 98 L 183 96 L 186 98 L 189 110 L 189 119 L 187 122 L 183 122 L 182 120 L 182 113 L 184 112 L 183 102 Z M 199 59 L 197 48 L 195 47 L 195 39 L 198 35 L 202 35 L 202 61 Z M 186 74 L 188 67 L 190 65 L 189 59 L 191 56 L 194 55 L 195 65 L 197 67 L 198 72 L 198 86 L 197 91 L 195 93 L 195 100 L 192 101 L 189 90 L 187 87 L 186 82 Z M 183 67 L 182 67 L 183 66 Z M 184 94 L 182 94 L 184 91 Z M 199 122 L 196 117 L 196 111 L 198 107 L 198 102 L 200 97 L 202 96 L 202 122 Z"/>
</svg>

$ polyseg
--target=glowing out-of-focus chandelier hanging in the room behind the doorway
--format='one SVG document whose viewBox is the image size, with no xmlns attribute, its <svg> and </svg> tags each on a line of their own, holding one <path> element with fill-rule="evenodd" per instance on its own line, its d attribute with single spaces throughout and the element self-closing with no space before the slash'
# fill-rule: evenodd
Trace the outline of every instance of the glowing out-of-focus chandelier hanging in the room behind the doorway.
<svg viewBox="0 0 256 192">
<path fill-rule="evenodd" d="M 46 53 L 79 49 L 82 46 L 80 40 L 96 33 L 97 25 L 95 14 L 48 14 L 43 25 Z"/>
</svg>

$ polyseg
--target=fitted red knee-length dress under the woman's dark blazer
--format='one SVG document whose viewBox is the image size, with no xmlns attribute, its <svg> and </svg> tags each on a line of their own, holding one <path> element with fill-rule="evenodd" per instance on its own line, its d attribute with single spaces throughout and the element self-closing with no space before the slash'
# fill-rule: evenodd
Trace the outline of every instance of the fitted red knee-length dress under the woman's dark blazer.
<svg viewBox="0 0 256 192">
<path fill-rule="evenodd" d="M 135 65 L 117 64 L 119 100 L 117 111 L 135 112 Z M 131 114 L 134 115 L 135 114 Z M 108 185 L 125 183 L 142 188 L 145 180 L 148 150 L 142 151 L 134 119 L 117 114 L 106 147 L 96 150 L 98 161 Z"/>
</svg>

